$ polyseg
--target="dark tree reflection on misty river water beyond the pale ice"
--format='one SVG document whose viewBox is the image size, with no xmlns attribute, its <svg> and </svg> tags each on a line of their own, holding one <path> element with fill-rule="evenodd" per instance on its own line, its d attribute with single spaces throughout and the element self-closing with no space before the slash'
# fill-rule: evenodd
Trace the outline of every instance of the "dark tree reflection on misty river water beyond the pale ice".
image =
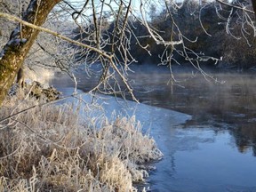
<svg viewBox="0 0 256 192">
<path fill-rule="evenodd" d="M 78 88 L 88 91 L 95 86 L 99 70 L 91 77 L 77 73 Z M 132 70 L 135 73 L 130 74 L 130 81 L 140 102 L 192 115 L 185 124 L 187 127 L 210 124 L 223 129 L 221 123 L 229 124 L 238 151 L 243 153 L 252 148 L 256 156 L 256 77 L 253 74 L 209 72 L 219 81 L 225 81 L 218 84 L 206 80 L 193 68 L 184 72 L 181 67 L 174 73 L 177 82 L 171 85 L 168 68 L 136 66 Z M 53 84 L 65 81 L 66 86 L 73 85 L 67 78 L 63 79 L 55 79 Z"/>
</svg>

